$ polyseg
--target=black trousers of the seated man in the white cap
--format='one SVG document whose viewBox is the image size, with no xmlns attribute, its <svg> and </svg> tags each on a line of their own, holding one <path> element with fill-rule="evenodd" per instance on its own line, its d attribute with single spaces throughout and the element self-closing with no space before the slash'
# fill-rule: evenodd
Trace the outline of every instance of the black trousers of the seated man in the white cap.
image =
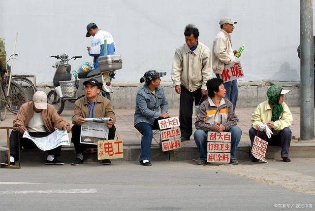
<svg viewBox="0 0 315 211">
<path fill-rule="evenodd" d="M 29 132 L 30 136 L 34 138 L 41 138 L 48 136 L 50 133 L 46 132 Z M 36 144 L 27 138 L 22 138 L 23 134 L 20 134 L 18 131 L 12 131 L 10 134 L 10 155 L 14 157 L 17 161 L 19 160 L 19 144 L 18 138 L 20 136 L 20 149 L 39 149 Z M 48 155 L 55 155 L 55 157 L 60 156 L 61 154 L 61 147 L 58 146 L 54 149 L 48 150 Z"/>
</svg>

